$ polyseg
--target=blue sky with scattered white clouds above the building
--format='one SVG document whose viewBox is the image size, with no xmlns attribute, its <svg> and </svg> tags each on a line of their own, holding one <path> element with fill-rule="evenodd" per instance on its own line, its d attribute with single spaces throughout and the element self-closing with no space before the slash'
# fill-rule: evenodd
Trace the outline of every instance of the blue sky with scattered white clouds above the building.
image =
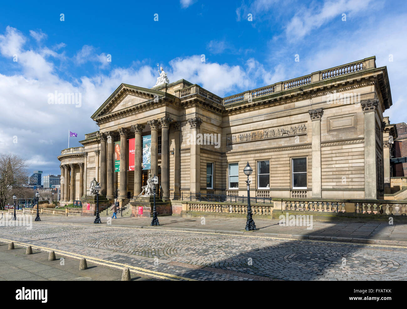
<svg viewBox="0 0 407 309">
<path fill-rule="evenodd" d="M 59 173 L 68 129 L 79 146 L 120 83 L 154 86 L 156 63 L 170 82 L 228 96 L 375 55 L 389 72 L 385 115 L 406 121 L 406 20 L 405 1 L 3 2 L 0 152 L 27 158 L 30 172 Z M 81 107 L 49 105 L 55 91 L 81 93 Z"/>
</svg>

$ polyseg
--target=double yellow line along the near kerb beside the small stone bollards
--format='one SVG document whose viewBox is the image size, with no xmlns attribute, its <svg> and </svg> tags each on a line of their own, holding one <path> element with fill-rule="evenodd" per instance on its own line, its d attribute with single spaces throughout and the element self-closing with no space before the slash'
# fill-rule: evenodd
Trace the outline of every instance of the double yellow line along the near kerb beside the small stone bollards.
<svg viewBox="0 0 407 309">
<path fill-rule="evenodd" d="M 0 238 L 0 241 L 11 242 L 12 240 Z M 74 253 L 74 252 L 68 252 L 68 251 L 63 251 L 63 250 L 58 250 L 58 249 L 53 249 L 53 248 L 41 247 L 41 246 L 32 245 L 32 244 L 29 244 L 29 243 L 22 243 L 22 242 L 14 242 L 14 244 L 15 245 L 20 245 L 20 246 L 23 246 L 23 247 L 28 247 L 29 245 L 31 245 L 31 248 L 33 248 L 33 249 L 39 249 L 39 250 L 47 251 L 47 252 L 54 251 L 55 254 L 59 254 L 59 255 L 62 255 L 62 256 L 68 256 L 68 257 L 73 258 L 73 259 L 85 258 L 87 262 L 102 265 L 102 266 L 107 266 L 107 267 L 114 267 L 114 268 L 118 268 L 120 270 L 123 270 L 123 267 L 129 267 L 131 272 L 133 272 L 135 274 L 142 275 L 142 276 L 158 278 L 158 279 L 163 279 L 163 280 L 171 280 L 171 281 L 182 281 L 182 280 L 185 280 L 185 281 L 197 281 L 197 280 L 191 279 L 191 278 L 186 278 L 186 277 L 172 275 L 172 274 L 166 274 L 164 272 L 155 272 L 153 270 L 148 270 L 148 269 L 141 268 L 141 267 L 136 267 L 136 266 L 133 266 L 133 265 L 127 265 L 127 264 L 123 264 L 123 263 L 107 261 L 107 260 L 98 259 L 98 258 L 95 258 L 95 257 L 92 257 L 92 256 L 77 254 L 77 253 Z"/>
</svg>

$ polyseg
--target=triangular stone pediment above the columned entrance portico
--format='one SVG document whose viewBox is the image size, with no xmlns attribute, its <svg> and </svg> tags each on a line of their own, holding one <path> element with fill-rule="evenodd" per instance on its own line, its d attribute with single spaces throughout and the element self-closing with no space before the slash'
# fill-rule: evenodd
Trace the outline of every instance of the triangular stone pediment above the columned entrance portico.
<svg viewBox="0 0 407 309">
<path fill-rule="evenodd" d="M 129 107 L 166 96 L 165 92 L 121 84 L 92 115 L 92 119 L 126 110 Z"/>
</svg>

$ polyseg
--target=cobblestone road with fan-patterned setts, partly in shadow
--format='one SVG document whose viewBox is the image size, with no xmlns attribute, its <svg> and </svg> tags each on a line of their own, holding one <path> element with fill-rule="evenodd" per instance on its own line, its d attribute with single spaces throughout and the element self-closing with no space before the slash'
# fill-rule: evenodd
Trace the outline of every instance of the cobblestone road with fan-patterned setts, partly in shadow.
<svg viewBox="0 0 407 309">
<path fill-rule="evenodd" d="M 394 246 L 45 222 L 0 238 L 178 279 L 407 280 L 407 248 Z"/>
</svg>

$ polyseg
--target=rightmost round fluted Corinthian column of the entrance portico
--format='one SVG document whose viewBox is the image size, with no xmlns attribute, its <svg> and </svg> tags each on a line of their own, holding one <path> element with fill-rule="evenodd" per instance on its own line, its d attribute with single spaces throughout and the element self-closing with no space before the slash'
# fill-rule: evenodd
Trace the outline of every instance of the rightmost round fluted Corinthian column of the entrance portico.
<svg viewBox="0 0 407 309">
<path fill-rule="evenodd" d="M 161 188 L 162 199 L 168 200 L 170 198 L 170 171 L 169 171 L 169 158 L 168 158 L 168 128 L 173 119 L 170 117 L 163 117 L 160 119 L 161 123 Z"/>
</svg>

